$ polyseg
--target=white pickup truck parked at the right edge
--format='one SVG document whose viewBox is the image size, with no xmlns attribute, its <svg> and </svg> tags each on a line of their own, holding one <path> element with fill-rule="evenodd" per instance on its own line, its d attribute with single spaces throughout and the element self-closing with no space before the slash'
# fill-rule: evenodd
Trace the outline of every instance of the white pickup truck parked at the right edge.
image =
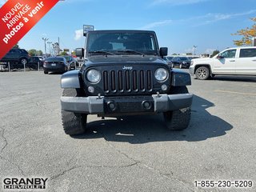
<svg viewBox="0 0 256 192">
<path fill-rule="evenodd" d="M 256 75 L 256 46 L 229 48 L 213 58 L 193 59 L 190 74 L 200 80 L 217 74 Z"/>
</svg>

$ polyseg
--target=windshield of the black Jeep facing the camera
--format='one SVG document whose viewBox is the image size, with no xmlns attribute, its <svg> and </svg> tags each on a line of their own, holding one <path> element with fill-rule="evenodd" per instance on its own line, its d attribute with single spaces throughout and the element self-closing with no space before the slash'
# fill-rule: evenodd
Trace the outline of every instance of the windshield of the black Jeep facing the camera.
<svg viewBox="0 0 256 192">
<path fill-rule="evenodd" d="M 127 51 L 129 50 L 129 51 Z M 87 39 L 89 54 L 158 54 L 154 34 L 133 32 L 91 33 Z"/>
</svg>

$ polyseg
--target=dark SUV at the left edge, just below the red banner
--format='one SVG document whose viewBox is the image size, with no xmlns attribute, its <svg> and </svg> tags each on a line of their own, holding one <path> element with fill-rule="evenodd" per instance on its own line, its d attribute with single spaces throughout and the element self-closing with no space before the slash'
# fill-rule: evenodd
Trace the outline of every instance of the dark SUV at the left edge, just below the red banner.
<svg viewBox="0 0 256 192">
<path fill-rule="evenodd" d="M 0 62 L 10 62 L 10 69 L 23 68 L 30 61 L 30 55 L 26 50 L 11 49 Z"/>
</svg>

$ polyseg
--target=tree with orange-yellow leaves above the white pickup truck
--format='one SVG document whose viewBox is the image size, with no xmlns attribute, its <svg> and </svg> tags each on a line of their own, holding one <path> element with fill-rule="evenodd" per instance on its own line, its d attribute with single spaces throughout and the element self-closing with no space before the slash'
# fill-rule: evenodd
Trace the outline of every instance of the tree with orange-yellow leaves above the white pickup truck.
<svg viewBox="0 0 256 192">
<path fill-rule="evenodd" d="M 254 25 L 246 27 L 246 29 L 238 30 L 237 33 L 232 35 L 242 36 L 241 40 L 234 40 L 234 45 L 236 46 L 250 46 L 252 43 L 252 38 L 256 37 L 256 18 L 250 18 L 254 22 Z"/>
</svg>

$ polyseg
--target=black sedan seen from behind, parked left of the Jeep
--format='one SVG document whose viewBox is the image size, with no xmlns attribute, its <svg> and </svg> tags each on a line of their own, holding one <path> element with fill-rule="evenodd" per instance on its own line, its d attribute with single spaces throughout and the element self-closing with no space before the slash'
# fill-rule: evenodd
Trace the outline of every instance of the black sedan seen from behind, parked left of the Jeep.
<svg viewBox="0 0 256 192">
<path fill-rule="evenodd" d="M 46 58 L 43 63 L 44 74 L 49 72 L 66 72 L 70 70 L 70 63 L 66 62 L 66 58 L 63 57 L 50 57 Z"/>
</svg>

